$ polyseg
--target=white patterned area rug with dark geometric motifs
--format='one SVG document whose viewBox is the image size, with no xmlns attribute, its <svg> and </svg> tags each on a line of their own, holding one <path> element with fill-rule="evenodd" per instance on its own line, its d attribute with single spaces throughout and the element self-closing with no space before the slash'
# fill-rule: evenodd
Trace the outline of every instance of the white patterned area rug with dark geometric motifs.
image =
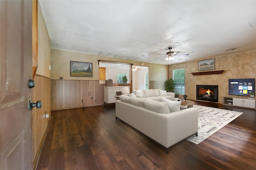
<svg viewBox="0 0 256 170">
<path fill-rule="evenodd" d="M 243 114 L 242 112 L 199 105 L 194 105 L 194 108 L 198 108 L 198 136 L 191 136 L 187 140 L 195 144 L 199 144 L 220 128 Z"/>
</svg>

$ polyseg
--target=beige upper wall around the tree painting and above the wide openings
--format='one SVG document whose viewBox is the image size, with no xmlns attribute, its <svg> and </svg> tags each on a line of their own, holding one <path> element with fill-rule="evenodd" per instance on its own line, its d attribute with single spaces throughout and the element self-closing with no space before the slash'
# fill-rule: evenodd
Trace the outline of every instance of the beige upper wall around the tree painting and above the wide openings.
<svg viewBox="0 0 256 170">
<path fill-rule="evenodd" d="M 142 61 L 106 57 L 60 49 L 51 50 L 51 78 L 59 79 L 60 77 L 63 77 L 64 80 L 99 80 L 98 60 L 132 63 L 134 65 L 141 65 L 141 63 L 144 63 L 144 66 L 149 67 L 150 81 L 165 81 L 168 79 L 168 65 L 146 63 Z M 70 61 L 92 63 L 93 77 L 70 77 Z"/>
</svg>

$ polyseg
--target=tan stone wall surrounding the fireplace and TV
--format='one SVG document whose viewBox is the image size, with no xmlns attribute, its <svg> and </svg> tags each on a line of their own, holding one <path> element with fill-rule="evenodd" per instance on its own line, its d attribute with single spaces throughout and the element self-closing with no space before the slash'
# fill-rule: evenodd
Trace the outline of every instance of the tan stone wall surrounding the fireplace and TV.
<svg viewBox="0 0 256 170">
<path fill-rule="evenodd" d="M 247 98 L 245 96 L 228 95 L 228 79 L 256 78 L 256 51 L 224 55 L 215 58 L 215 70 L 224 70 L 216 75 L 192 75 L 198 71 L 198 61 L 169 65 L 169 76 L 173 69 L 185 68 L 185 93 L 187 99 L 196 100 L 196 85 L 218 85 L 219 103 L 222 97 L 232 96 Z"/>
</svg>

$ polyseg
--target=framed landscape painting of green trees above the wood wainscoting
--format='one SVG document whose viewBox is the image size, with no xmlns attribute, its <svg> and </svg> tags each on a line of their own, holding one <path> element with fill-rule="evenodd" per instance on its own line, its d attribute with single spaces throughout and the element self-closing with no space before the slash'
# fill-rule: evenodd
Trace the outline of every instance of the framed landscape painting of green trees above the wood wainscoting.
<svg viewBox="0 0 256 170">
<path fill-rule="evenodd" d="M 92 63 L 70 61 L 70 77 L 92 77 Z"/>
</svg>

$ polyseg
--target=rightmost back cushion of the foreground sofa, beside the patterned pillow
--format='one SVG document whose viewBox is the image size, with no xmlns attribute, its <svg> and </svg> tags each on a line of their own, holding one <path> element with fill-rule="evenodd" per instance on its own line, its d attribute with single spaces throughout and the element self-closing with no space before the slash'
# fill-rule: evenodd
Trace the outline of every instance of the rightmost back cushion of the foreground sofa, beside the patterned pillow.
<svg viewBox="0 0 256 170">
<path fill-rule="evenodd" d="M 157 113 L 170 113 L 170 110 L 165 102 L 154 101 L 146 99 L 143 101 L 146 109 Z"/>
</svg>

